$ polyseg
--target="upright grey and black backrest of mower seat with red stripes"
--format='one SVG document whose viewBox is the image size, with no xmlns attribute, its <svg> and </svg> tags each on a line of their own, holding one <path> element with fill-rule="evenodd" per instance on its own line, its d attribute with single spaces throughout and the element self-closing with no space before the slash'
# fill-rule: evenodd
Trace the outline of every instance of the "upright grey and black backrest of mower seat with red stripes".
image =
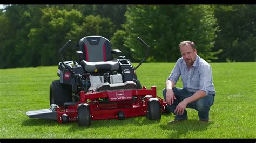
<svg viewBox="0 0 256 143">
<path fill-rule="evenodd" d="M 84 59 L 89 62 L 109 61 L 112 58 L 111 44 L 102 36 L 86 36 L 79 41 Z"/>
</svg>

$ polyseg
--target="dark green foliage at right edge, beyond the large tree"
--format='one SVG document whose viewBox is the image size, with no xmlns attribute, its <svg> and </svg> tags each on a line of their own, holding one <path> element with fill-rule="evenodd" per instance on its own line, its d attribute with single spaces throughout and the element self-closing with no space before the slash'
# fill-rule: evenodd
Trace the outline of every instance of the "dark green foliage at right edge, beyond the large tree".
<svg viewBox="0 0 256 143">
<path fill-rule="evenodd" d="M 221 30 L 214 49 L 223 49 L 215 61 L 256 61 L 256 5 L 215 5 L 214 11 Z"/>
</svg>

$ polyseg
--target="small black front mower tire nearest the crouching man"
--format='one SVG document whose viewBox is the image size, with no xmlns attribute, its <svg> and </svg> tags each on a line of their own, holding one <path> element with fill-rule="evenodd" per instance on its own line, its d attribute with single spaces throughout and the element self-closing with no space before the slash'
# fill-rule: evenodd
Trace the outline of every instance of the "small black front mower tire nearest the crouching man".
<svg viewBox="0 0 256 143">
<path fill-rule="evenodd" d="M 147 118 L 149 120 L 161 119 L 161 105 L 157 98 L 150 98 L 147 101 Z"/>
</svg>

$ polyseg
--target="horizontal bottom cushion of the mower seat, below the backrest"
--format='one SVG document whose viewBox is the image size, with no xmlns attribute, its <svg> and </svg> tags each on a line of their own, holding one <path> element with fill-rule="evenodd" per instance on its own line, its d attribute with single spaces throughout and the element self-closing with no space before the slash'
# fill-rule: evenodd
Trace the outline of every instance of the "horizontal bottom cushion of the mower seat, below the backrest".
<svg viewBox="0 0 256 143">
<path fill-rule="evenodd" d="M 88 62 L 85 60 L 81 61 L 83 69 L 87 73 L 95 72 L 97 69 L 98 72 L 104 71 L 116 71 L 119 69 L 119 62 L 117 59 L 112 59 L 110 61 L 101 61 L 101 62 Z"/>
</svg>

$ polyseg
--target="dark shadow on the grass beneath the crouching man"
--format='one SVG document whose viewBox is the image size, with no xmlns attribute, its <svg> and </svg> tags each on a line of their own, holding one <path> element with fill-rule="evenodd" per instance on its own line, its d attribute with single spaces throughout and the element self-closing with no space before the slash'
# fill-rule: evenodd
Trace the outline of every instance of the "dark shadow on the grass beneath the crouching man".
<svg viewBox="0 0 256 143">
<path fill-rule="evenodd" d="M 199 120 L 185 120 L 179 123 L 172 123 L 172 124 L 164 124 L 160 125 L 163 130 L 172 130 L 173 132 L 170 133 L 170 138 L 182 138 L 185 137 L 189 132 L 200 132 L 204 131 L 208 128 L 209 125 L 213 124 L 213 121 L 209 121 L 207 123 L 199 122 Z"/>
</svg>

